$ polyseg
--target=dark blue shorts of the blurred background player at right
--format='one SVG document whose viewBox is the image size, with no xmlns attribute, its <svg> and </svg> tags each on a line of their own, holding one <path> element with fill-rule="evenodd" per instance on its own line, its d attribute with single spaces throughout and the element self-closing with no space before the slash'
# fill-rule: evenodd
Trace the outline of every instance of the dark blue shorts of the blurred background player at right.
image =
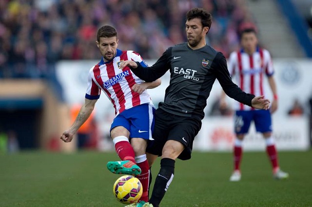
<svg viewBox="0 0 312 207">
<path fill-rule="evenodd" d="M 272 132 L 270 110 L 236 111 L 234 131 L 236 134 L 247 134 L 251 122 L 254 121 L 257 132 Z"/>
</svg>

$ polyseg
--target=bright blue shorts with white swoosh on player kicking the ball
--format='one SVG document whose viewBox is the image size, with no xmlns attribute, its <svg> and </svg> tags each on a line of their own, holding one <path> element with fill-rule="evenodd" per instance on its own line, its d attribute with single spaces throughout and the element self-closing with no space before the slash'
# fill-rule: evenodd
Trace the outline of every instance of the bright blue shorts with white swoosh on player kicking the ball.
<svg viewBox="0 0 312 207">
<path fill-rule="evenodd" d="M 126 109 L 115 117 L 110 131 L 117 126 L 123 126 L 130 132 L 130 138 L 153 140 L 154 112 L 155 108 L 150 104 Z"/>
</svg>

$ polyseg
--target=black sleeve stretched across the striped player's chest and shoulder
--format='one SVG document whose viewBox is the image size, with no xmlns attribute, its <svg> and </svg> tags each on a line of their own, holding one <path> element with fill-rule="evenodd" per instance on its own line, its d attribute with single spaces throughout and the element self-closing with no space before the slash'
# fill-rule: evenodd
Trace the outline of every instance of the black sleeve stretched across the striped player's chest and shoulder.
<svg viewBox="0 0 312 207">
<path fill-rule="evenodd" d="M 153 82 L 163 76 L 168 69 L 170 69 L 170 57 L 171 57 L 172 47 L 168 48 L 157 62 L 151 67 L 143 67 L 137 62 L 137 68 L 130 69 L 143 81 Z"/>
</svg>

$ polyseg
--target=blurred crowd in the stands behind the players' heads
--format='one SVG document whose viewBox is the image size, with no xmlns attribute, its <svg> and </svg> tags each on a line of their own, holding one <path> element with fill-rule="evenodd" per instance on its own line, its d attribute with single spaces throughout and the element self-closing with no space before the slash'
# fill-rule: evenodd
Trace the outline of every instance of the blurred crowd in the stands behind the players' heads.
<svg viewBox="0 0 312 207">
<path fill-rule="evenodd" d="M 117 28 L 119 49 L 158 58 L 186 41 L 193 7 L 212 13 L 207 41 L 226 57 L 252 22 L 245 0 L 1 0 L 0 77 L 45 78 L 59 60 L 100 59 L 96 32 L 105 24 Z"/>
</svg>

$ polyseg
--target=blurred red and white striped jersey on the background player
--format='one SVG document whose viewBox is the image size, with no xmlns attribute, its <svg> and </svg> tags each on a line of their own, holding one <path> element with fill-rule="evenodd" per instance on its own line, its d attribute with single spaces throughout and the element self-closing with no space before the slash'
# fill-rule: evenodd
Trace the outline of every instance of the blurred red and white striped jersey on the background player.
<svg viewBox="0 0 312 207">
<path fill-rule="evenodd" d="M 255 96 L 265 93 L 264 75 L 271 76 L 274 73 L 270 52 L 257 47 L 256 51 L 249 55 L 240 51 L 232 52 L 228 60 L 228 69 L 237 84 L 246 93 L 252 93 Z M 235 102 L 234 110 L 253 110 L 254 108 Z"/>
</svg>

